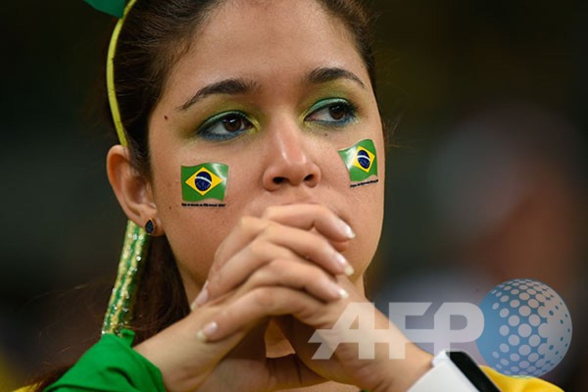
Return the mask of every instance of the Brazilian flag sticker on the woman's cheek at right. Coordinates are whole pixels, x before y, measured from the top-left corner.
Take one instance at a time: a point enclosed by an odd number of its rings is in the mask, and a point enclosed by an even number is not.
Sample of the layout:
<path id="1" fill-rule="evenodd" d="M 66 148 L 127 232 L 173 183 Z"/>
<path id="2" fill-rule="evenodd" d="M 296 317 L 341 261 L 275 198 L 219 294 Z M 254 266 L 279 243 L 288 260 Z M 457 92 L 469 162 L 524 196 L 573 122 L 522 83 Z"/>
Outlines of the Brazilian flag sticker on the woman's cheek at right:
<path id="1" fill-rule="evenodd" d="M 371 176 L 377 176 L 376 146 L 373 140 L 363 139 L 339 155 L 349 170 L 351 182 L 360 182 Z"/>

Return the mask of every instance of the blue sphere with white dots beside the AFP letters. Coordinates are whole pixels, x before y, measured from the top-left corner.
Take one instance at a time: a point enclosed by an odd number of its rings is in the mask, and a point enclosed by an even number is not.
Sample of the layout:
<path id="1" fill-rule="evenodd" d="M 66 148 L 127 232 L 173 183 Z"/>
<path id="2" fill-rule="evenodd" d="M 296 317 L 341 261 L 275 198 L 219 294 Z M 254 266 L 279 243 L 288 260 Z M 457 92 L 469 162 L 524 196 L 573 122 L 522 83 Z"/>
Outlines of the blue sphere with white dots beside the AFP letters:
<path id="1" fill-rule="evenodd" d="M 484 331 L 476 340 L 486 363 L 509 376 L 543 376 L 559 364 L 572 341 L 572 318 L 551 287 L 514 279 L 480 303 Z"/>

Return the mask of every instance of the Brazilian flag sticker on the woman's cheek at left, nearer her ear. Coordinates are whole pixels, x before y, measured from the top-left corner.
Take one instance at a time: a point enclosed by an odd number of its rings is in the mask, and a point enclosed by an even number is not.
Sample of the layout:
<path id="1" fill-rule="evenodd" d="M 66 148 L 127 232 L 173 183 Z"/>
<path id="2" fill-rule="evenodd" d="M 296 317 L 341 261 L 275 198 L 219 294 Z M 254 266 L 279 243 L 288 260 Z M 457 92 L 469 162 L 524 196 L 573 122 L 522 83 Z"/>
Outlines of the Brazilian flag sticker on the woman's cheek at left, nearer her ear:
<path id="1" fill-rule="evenodd" d="M 182 166 L 182 199 L 200 202 L 206 199 L 225 200 L 229 166 L 223 163 L 202 163 Z"/>

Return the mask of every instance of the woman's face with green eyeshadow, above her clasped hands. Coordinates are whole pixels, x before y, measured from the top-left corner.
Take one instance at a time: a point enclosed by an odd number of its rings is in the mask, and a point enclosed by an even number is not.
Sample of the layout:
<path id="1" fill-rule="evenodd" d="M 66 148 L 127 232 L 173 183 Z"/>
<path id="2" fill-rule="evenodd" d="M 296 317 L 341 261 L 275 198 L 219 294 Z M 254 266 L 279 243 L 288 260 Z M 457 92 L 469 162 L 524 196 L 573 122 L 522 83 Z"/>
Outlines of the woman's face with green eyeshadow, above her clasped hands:
<path id="1" fill-rule="evenodd" d="M 382 126 L 352 38 L 315 1 L 225 2 L 171 69 L 149 129 L 153 199 L 189 299 L 240 217 L 287 203 L 322 203 L 349 223 L 344 254 L 362 287 L 382 227 Z M 338 150 L 363 139 L 379 183 L 350 187 Z M 226 206 L 182 206 L 181 166 L 207 162 L 229 167 Z"/>

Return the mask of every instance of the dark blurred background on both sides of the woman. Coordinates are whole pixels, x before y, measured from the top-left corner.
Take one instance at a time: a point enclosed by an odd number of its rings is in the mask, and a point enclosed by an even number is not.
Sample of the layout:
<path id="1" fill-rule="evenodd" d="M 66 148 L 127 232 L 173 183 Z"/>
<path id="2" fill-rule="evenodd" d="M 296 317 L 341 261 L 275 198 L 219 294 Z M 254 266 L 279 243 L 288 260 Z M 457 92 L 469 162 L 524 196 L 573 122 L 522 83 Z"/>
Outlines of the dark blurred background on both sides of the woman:
<path id="1" fill-rule="evenodd" d="M 588 6 L 373 0 L 395 129 L 372 299 L 481 300 L 508 279 L 572 315 L 545 378 L 588 388 Z M 125 229 L 101 119 L 112 19 L 81 0 L 3 2 L 0 390 L 98 338 Z"/>

